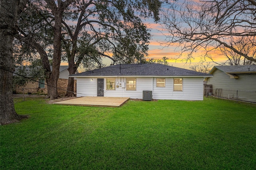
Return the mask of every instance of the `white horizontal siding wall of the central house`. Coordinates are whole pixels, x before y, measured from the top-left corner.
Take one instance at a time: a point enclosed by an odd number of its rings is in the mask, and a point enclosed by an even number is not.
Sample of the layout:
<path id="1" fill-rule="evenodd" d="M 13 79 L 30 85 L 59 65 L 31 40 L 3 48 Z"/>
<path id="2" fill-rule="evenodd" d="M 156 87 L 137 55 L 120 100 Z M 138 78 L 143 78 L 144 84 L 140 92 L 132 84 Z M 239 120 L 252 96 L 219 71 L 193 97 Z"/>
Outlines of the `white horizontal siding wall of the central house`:
<path id="1" fill-rule="evenodd" d="M 100 78 L 100 77 L 99 77 Z M 161 78 L 161 77 L 158 77 Z M 182 77 L 180 77 L 182 78 Z M 93 81 L 91 81 L 93 79 Z M 121 86 L 119 85 L 121 83 Z M 183 77 L 183 91 L 173 91 L 173 78 L 166 78 L 165 87 L 156 87 L 156 78 L 137 77 L 136 90 L 126 90 L 126 78 L 116 77 L 116 90 L 106 90 L 106 78 L 104 79 L 104 96 L 106 97 L 130 97 L 142 99 L 143 90 L 152 90 L 153 99 L 163 100 L 203 100 L 203 78 Z M 77 78 L 77 96 L 97 96 L 97 78 Z"/>

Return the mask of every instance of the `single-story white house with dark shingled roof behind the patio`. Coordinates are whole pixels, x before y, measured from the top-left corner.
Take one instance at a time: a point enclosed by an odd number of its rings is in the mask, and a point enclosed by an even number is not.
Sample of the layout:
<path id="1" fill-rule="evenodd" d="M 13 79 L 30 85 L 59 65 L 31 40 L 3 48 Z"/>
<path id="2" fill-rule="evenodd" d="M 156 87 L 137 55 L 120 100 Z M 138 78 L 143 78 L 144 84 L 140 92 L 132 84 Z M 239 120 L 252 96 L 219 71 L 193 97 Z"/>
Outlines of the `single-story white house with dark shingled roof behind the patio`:
<path id="1" fill-rule="evenodd" d="M 77 96 L 203 100 L 203 80 L 210 74 L 163 64 L 118 64 L 70 75 L 77 78 Z M 147 94 L 146 94 L 147 95 Z"/>

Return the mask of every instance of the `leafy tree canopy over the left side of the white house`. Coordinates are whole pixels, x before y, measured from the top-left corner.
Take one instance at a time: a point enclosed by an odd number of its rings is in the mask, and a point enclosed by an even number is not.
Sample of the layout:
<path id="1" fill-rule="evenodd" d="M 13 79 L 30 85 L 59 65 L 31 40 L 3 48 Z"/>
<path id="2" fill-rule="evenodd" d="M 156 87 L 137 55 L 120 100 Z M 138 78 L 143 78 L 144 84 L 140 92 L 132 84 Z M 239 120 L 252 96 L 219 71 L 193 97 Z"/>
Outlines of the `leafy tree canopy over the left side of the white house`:
<path id="1" fill-rule="evenodd" d="M 61 59 L 68 61 L 70 74 L 74 74 L 80 64 L 103 66 L 102 57 L 111 59 L 114 64 L 140 61 L 147 55 L 150 39 L 143 20 L 152 17 L 158 21 L 162 2 L 66 0 L 54 4 L 54 0 L 30 0 L 24 11 L 26 15 L 19 20 L 20 32 L 16 35 L 24 45 L 36 49 L 49 76 L 52 74 L 48 70 L 49 60 L 53 59 L 53 67 L 56 61 L 54 49 L 60 49 Z M 54 25 L 56 17 L 60 17 L 56 15 L 57 8 L 62 9 L 61 43 L 54 45 Z"/>

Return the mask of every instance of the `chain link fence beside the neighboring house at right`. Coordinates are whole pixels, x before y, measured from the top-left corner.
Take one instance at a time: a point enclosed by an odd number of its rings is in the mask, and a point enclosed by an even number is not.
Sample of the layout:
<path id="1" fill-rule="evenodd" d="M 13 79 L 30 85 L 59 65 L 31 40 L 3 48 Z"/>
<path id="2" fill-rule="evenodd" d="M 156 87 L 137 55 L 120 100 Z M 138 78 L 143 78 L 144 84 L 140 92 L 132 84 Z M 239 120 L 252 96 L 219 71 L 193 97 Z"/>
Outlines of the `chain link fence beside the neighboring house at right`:
<path id="1" fill-rule="evenodd" d="M 215 96 L 218 98 L 226 98 L 229 100 L 237 100 L 244 102 L 256 103 L 256 91 L 252 90 L 235 90 L 235 89 L 223 89 L 223 88 L 209 88 L 205 86 L 205 96 Z"/>

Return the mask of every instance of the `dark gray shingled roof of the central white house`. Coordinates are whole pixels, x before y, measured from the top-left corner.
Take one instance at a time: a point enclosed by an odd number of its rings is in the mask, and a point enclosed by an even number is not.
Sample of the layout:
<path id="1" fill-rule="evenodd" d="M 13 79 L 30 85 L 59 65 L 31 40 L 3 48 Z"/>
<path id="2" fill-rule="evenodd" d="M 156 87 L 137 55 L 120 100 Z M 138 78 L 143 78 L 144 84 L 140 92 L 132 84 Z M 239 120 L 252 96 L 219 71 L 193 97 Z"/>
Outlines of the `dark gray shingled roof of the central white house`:
<path id="1" fill-rule="evenodd" d="M 118 64 L 70 76 L 202 76 L 210 74 L 163 64 Z"/>

